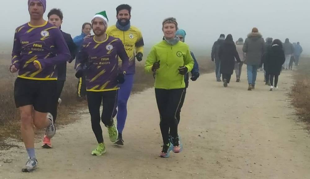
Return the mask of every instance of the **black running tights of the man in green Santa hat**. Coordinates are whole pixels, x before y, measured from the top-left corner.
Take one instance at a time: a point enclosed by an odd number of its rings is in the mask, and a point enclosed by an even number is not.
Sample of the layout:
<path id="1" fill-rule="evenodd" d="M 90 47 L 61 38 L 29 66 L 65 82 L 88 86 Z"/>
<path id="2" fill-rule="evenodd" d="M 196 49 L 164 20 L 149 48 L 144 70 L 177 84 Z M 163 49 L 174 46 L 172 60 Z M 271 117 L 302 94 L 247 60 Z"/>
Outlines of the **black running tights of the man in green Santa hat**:
<path id="1" fill-rule="evenodd" d="M 103 105 L 100 116 L 101 102 Z M 100 119 L 105 126 L 113 125 L 113 112 L 117 102 L 117 90 L 106 92 L 87 92 L 88 110 L 91 114 L 91 128 L 96 136 L 98 143 L 103 143 L 102 128 Z"/>

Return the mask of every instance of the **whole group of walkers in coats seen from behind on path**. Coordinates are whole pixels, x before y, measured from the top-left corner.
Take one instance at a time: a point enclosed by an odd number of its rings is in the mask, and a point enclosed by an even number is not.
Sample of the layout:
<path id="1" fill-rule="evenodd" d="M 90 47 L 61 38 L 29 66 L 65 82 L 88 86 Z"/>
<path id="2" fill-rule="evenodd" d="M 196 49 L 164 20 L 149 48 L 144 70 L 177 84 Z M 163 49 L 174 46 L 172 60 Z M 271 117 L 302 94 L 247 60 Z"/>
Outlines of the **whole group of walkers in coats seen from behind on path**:
<path id="1" fill-rule="evenodd" d="M 239 38 L 234 43 L 232 35 L 221 34 L 212 47 L 211 60 L 215 61 L 216 81 L 221 82 L 224 87 L 230 83 L 233 70 L 236 73 L 236 82 L 240 82 L 243 64 L 247 65 L 248 90 L 254 90 L 257 71 L 264 67 L 265 84 L 270 86 L 270 91 L 278 89 L 277 83 L 282 69 L 292 69 L 293 63 L 299 65 L 299 56 L 303 49 L 300 43 L 291 44 L 289 39 L 282 43 L 279 39 L 273 40 L 263 36 L 257 28 L 247 35 L 246 40 Z"/>

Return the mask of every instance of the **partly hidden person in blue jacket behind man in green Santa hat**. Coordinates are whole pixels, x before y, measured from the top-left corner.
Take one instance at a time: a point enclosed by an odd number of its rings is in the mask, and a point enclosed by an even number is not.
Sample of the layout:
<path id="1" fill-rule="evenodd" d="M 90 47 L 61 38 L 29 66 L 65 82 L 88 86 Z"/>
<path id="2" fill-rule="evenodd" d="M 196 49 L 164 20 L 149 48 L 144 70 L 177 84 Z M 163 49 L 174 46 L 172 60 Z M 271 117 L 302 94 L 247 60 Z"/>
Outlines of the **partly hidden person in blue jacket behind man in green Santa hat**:
<path id="1" fill-rule="evenodd" d="M 83 43 L 83 41 L 86 38 L 89 38 L 91 36 L 91 23 L 85 22 L 82 25 L 82 34 L 76 36 L 75 38 L 73 38 L 73 42 L 75 43 L 75 45 L 77 46 L 77 53 L 79 52 L 79 49 Z M 75 60 L 75 65 L 74 65 L 74 69 L 77 68 L 77 60 Z M 79 78 L 78 80 L 78 90 L 77 90 L 77 94 L 78 94 L 78 98 L 83 99 L 86 96 L 86 83 L 85 83 L 85 76 L 82 76 L 81 78 Z"/>

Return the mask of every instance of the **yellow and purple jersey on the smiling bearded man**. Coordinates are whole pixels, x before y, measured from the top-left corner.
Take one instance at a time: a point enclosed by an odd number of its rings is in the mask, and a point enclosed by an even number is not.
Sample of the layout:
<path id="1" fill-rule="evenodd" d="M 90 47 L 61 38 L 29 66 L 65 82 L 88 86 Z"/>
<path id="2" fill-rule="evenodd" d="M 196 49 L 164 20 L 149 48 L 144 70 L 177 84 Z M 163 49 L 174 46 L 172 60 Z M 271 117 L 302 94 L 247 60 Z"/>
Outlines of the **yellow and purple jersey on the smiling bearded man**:
<path id="1" fill-rule="evenodd" d="M 126 31 L 122 31 L 117 29 L 116 25 L 108 27 L 106 33 L 110 36 L 115 38 L 120 38 L 124 44 L 125 50 L 129 57 L 129 66 L 128 70 L 126 71 L 127 74 L 134 74 L 135 73 L 135 55 L 137 53 L 143 54 L 143 37 L 141 31 L 134 27 L 130 26 L 130 29 Z M 119 64 L 122 64 L 122 60 L 119 59 Z M 119 69 L 121 65 L 119 66 Z"/>

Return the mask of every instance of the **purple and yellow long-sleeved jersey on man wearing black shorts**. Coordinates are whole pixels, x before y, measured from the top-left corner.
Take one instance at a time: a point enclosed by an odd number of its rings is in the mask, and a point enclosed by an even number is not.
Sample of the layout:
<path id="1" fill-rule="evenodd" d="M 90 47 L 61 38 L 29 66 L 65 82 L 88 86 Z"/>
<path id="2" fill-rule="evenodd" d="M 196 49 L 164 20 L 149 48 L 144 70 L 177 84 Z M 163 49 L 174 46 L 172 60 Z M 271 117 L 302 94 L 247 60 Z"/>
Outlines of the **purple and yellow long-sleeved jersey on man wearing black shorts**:
<path id="1" fill-rule="evenodd" d="M 16 29 L 12 65 L 19 69 L 18 78 L 57 80 L 56 65 L 69 59 L 70 52 L 60 29 L 47 21 L 44 25 L 27 23 Z M 40 69 L 33 63 L 38 63 Z"/>

